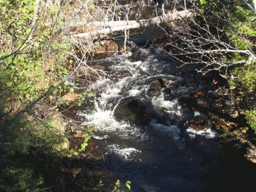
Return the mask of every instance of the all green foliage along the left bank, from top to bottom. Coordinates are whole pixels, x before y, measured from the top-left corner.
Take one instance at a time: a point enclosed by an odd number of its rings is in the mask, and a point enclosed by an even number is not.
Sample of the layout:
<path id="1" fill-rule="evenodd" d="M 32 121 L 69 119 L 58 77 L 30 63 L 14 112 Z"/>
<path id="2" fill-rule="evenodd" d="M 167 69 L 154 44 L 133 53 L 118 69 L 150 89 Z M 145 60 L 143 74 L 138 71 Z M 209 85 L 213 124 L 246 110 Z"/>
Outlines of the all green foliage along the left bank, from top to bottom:
<path id="1" fill-rule="evenodd" d="M 68 73 L 72 45 L 58 32 L 63 16 L 55 5 L 35 10 L 35 0 L 0 1 L 0 128 Z M 1 133 L 0 191 L 39 191 L 45 169 L 54 172 L 52 164 L 61 157 L 48 155 L 68 148 L 56 114 L 34 108 Z"/>

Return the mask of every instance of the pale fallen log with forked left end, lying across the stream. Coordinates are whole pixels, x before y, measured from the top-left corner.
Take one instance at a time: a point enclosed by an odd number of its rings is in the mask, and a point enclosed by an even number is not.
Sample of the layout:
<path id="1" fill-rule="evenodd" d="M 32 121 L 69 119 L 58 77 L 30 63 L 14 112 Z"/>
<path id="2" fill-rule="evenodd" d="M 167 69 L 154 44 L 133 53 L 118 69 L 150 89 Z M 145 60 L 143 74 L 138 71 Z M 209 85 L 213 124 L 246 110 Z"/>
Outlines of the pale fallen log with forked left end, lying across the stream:
<path id="1" fill-rule="evenodd" d="M 152 19 L 142 19 L 142 20 L 117 20 L 117 21 L 109 21 L 109 22 L 90 22 L 87 24 L 77 23 L 73 26 L 87 26 L 87 27 L 97 27 L 94 31 L 89 31 L 86 33 L 79 33 L 76 35 L 72 35 L 73 38 L 85 38 L 85 39 L 93 39 L 98 38 L 100 35 L 107 35 L 109 33 L 113 33 L 114 31 L 122 31 L 127 29 L 136 29 L 143 28 L 150 25 L 161 24 L 163 22 L 170 22 L 177 19 L 183 19 L 185 17 L 191 17 L 193 12 L 189 10 L 184 11 L 174 11 L 171 13 L 167 13 L 158 17 L 154 17 Z"/>

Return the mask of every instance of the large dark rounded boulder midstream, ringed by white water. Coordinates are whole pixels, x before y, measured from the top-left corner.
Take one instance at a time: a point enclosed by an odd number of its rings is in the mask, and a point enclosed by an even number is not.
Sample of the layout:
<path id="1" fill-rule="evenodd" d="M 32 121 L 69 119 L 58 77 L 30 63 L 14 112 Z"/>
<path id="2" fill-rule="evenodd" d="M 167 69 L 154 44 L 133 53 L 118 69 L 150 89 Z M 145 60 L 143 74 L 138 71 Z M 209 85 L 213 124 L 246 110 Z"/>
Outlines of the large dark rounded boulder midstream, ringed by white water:
<path id="1" fill-rule="evenodd" d="M 125 97 L 115 108 L 116 120 L 129 120 L 135 124 L 148 124 L 152 118 L 160 119 L 150 102 L 143 97 Z"/>

